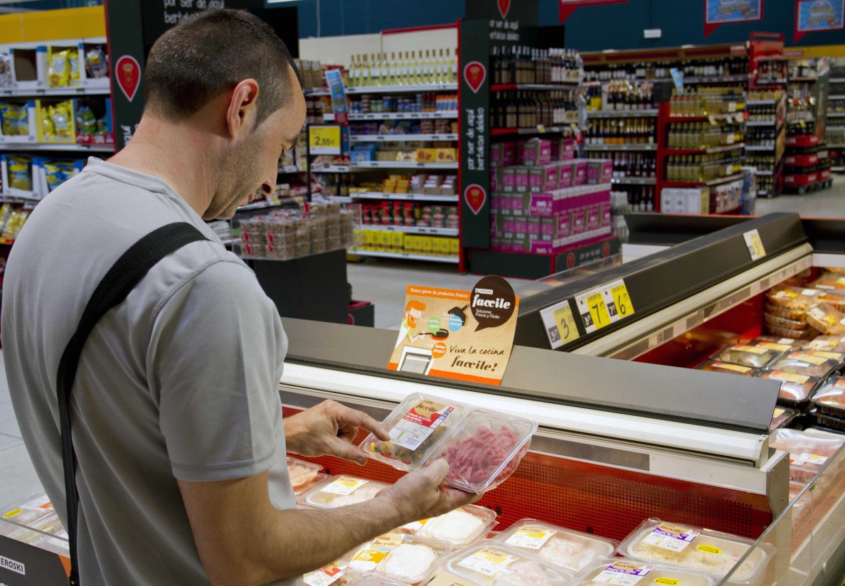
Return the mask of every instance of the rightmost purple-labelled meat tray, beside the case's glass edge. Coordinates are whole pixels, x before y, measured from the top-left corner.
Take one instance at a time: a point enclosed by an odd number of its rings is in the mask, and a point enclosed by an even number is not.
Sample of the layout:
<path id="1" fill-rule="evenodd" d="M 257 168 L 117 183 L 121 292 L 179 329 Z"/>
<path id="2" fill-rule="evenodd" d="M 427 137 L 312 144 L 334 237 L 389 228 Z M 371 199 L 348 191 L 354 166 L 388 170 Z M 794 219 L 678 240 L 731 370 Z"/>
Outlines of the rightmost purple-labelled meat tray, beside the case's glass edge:
<path id="1" fill-rule="evenodd" d="M 749 551 L 754 541 L 737 535 L 648 519 L 619 545 L 618 553 L 643 562 L 703 570 L 724 578 Z M 733 572 L 731 582 L 755 584 L 770 559 L 765 549 L 756 548 Z"/>

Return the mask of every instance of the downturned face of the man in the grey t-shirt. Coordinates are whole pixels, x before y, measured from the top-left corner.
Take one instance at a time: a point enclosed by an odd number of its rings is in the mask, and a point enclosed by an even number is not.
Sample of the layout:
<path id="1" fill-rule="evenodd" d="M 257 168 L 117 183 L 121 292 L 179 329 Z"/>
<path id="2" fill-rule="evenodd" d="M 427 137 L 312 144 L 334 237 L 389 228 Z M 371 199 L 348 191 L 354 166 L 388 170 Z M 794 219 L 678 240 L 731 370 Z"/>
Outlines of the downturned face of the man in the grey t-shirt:
<path id="1" fill-rule="evenodd" d="M 296 74 L 290 69 L 293 87 Z M 228 220 L 239 206 L 251 202 L 264 187 L 275 191 L 279 157 L 293 148 L 305 122 L 305 98 L 295 91 L 292 99 L 270 114 L 252 133 L 233 145 L 224 168 L 215 170 L 218 182 L 203 220 Z"/>

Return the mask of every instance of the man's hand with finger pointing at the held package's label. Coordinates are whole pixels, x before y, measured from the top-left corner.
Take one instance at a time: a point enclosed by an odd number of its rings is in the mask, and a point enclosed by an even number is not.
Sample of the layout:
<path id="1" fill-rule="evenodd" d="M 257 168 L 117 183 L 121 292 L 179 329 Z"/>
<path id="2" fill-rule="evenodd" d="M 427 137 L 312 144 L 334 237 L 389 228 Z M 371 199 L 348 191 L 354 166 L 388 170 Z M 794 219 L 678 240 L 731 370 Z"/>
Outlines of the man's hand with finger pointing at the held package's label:
<path id="1" fill-rule="evenodd" d="M 366 413 L 349 409 L 336 401 L 324 401 L 285 418 L 287 451 L 308 458 L 337 456 L 363 466 L 367 457 L 361 448 L 352 445 L 359 427 L 371 431 L 380 440 L 390 440 L 384 427 Z"/>

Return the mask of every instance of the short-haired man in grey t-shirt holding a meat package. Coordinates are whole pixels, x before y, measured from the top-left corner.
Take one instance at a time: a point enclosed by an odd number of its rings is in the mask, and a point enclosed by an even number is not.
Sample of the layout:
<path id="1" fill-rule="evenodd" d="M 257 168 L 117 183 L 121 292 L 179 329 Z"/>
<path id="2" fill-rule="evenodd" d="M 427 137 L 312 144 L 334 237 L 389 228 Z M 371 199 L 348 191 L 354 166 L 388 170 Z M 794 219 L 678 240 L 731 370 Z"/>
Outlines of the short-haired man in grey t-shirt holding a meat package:
<path id="1" fill-rule="evenodd" d="M 79 570 L 93 584 L 301 583 L 303 572 L 477 496 L 439 461 L 373 501 L 295 509 L 286 450 L 363 464 L 367 415 L 328 402 L 281 421 L 287 340 L 254 274 L 203 219 L 259 188 L 305 118 L 290 54 L 253 16 L 211 10 L 153 46 L 134 138 L 47 197 L 8 259 L 3 345 L 27 449 L 63 520 L 56 373 L 85 304 L 117 258 L 183 221 L 197 241 L 156 264 L 94 328 L 70 407 Z"/>

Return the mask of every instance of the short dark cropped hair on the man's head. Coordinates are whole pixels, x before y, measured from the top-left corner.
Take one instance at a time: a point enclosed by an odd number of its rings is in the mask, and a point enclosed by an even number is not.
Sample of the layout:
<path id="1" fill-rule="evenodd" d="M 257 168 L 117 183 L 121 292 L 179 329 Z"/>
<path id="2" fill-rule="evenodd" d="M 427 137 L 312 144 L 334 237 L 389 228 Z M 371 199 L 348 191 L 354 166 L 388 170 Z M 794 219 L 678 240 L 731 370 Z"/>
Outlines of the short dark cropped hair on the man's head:
<path id="1" fill-rule="evenodd" d="M 146 107 L 182 120 L 244 79 L 255 79 L 258 126 L 291 99 L 289 67 L 302 90 L 302 73 L 269 24 L 246 10 L 204 10 L 155 41 L 145 70 Z"/>

